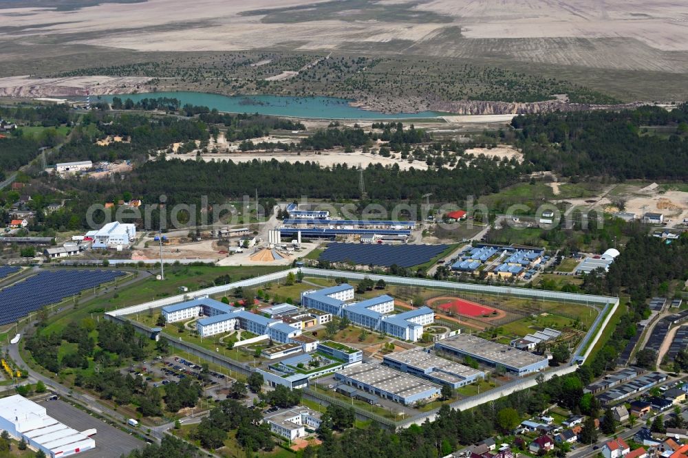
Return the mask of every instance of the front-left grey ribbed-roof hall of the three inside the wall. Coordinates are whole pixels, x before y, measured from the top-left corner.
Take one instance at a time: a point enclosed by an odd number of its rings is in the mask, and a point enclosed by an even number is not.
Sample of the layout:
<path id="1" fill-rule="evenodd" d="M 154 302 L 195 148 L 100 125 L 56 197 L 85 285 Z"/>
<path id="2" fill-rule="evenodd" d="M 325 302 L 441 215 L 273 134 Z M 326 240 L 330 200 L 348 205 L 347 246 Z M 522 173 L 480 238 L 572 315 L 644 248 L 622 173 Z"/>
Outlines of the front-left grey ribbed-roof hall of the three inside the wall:
<path id="1" fill-rule="evenodd" d="M 438 384 L 393 371 L 380 364 L 365 362 L 342 369 L 335 373 L 334 377 L 362 391 L 405 405 L 431 401 L 438 397 L 441 391 Z"/>

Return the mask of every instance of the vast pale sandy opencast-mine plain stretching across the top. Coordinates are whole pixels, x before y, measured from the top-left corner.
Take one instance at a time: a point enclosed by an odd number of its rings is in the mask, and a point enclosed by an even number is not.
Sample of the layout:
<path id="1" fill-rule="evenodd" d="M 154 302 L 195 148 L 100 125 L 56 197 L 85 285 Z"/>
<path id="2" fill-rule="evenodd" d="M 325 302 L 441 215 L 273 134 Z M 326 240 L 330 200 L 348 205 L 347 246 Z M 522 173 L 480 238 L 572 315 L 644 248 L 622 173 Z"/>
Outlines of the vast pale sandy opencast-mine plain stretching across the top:
<path id="1" fill-rule="evenodd" d="M 409 13 L 406 0 L 371 0 L 377 11 L 373 16 L 366 15 L 367 8 L 335 6 L 333 11 L 332 3 L 313 6 L 301 17 L 285 10 L 269 21 L 261 14 L 240 13 L 314 3 L 149 0 L 76 11 L 14 8 L 0 10 L 0 24 L 12 25 L 0 40 L 60 35 L 62 43 L 155 51 L 351 50 L 352 43 L 357 43 L 354 49 L 391 43 L 392 52 L 406 52 L 413 45 L 416 54 L 434 56 L 488 54 L 583 67 L 688 69 L 685 57 L 661 52 L 688 51 L 688 10 L 682 0 L 431 0 L 413 6 L 416 20 L 396 19 Z M 394 47 L 400 41 L 407 44 Z"/>

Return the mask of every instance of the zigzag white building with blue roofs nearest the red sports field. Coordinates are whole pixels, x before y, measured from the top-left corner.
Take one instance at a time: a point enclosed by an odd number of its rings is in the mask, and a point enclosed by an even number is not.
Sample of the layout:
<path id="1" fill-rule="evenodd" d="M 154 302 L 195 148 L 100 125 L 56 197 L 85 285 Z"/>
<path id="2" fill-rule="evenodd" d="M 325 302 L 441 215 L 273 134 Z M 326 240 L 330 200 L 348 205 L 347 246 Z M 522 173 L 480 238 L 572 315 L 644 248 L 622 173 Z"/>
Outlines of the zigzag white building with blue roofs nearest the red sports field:
<path id="1" fill-rule="evenodd" d="M 301 305 L 323 310 L 334 316 L 346 316 L 355 325 L 412 342 L 419 340 L 423 327 L 435 320 L 435 312 L 429 307 L 388 315 L 394 311 L 394 298 L 387 294 L 356 302 L 354 287 L 348 283 L 302 292 Z"/>

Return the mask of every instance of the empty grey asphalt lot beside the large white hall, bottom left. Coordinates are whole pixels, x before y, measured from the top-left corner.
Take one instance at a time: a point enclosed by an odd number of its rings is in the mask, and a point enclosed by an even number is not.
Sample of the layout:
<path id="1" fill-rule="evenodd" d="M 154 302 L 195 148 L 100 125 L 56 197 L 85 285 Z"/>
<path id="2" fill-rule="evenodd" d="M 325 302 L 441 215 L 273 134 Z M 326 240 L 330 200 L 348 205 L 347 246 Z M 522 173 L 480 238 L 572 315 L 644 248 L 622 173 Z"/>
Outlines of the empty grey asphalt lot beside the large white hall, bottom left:
<path id="1" fill-rule="evenodd" d="M 39 403 L 45 407 L 48 415 L 70 428 L 78 431 L 85 431 L 90 428 L 98 430 L 98 433 L 93 436 L 96 441 L 96 448 L 80 453 L 80 457 L 119 458 L 122 455 L 127 455 L 134 448 L 146 445 L 145 442 L 136 437 L 92 417 L 62 400 L 41 401 Z"/>

